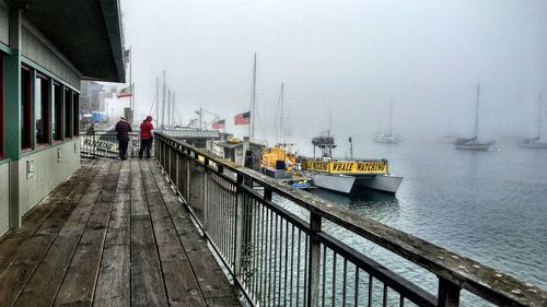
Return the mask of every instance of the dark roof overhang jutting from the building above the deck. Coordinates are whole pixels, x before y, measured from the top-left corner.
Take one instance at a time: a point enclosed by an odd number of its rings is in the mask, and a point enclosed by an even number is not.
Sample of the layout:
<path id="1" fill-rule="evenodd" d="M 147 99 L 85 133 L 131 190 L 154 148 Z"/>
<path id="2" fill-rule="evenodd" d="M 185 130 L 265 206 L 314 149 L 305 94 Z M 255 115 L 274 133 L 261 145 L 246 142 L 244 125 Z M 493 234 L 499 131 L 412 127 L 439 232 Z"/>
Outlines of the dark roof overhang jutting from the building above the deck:
<path id="1" fill-rule="evenodd" d="M 8 0 L 83 74 L 125 82 L 118 0 Z"/>

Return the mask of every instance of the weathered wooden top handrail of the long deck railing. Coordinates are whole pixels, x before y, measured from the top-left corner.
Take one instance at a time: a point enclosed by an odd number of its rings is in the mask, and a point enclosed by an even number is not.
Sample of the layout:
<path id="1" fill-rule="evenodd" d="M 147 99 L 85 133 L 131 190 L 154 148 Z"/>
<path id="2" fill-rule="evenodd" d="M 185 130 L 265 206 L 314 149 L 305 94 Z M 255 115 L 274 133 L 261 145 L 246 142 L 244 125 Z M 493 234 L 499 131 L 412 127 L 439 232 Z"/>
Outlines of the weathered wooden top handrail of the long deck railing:
<path id="1" fill-rule="evenodd" d="M 261 197 L 253 193 L 254 190 L 243 185 L 243 181 L 251 180 L 254 185 L 264 187 L 265 194 L 268 193 L 271 196 L 271 192 L 275 192 L 306 209 L 311 215 L 311 221 L 309 223 L 310 228 L 306 231 L 310 234 L 311 240 L 310 248 L 312 250 L 310 253 L 313 253 L 314 243 L 325 246 L 337 245 L 336 248 L 339 249 L 349 248 L 321 232 L 321 219 L 326 219 L 432 272 L 439 278 L 439 293 L 437 298 L 428 296 L 427 293 L 421 293 L 421 288 L 416 288 L 414 284 L 409 284 L 407 281 L 400 282 L 399 279 L 400 283 L 397 284 L 397 286 L 404 285 L 406 287 L 404 291 L 407 293 L 411 292 L 417 294 L 416 299 L 411 300 L 420 306 L 458 306 L 459 292 L 462 288 L 501 306 L 547 306 L 547 292 L 545 290 L 524 283 L 511 275 L 501 273 L 498 270 L 451 252 L 405 232 L 363 216 L 354 215 L 349 210 L 337 206 L 311 193 L 281 185 L 275 179 L 258 172 L 216 157 L 203 150 L 193 147 L 162 133 L 155 133 L 155 135 L 159 143 L 166 145 L 166 147 L 162 147 L 164 151 L 165 149 L 174 151 L 176 154 L 194 161 L 193 163 L 198 163 L 206 167 L 205 172 L 214 170 L 214 174 L 225 177 L 229 180 L 231 179 L 235 182 L 238 191 L 248 196 L 254 194 L 255 198 L 261 199 L 264 205 L 269 205 L 270 208 L 276 206 L 266 196 Z M 164 155 L 158 152 L 162 151 L 162 149 L 156 146 L 156 156 L 160 163 L 164 163 L 162 165 L 165 168 L 166 161 L 162 161 L 164 160 Z M 202 161 L 198 160 L 199 156 L 202 157 Z M 211 162 L 216 167 L 210 166 Z M 171 161 L 168 163 L 172 165 Z M 235 174 L 237 179 L 234 180 L 235 178 L 226 176 L 224 174 L 225 170 Z M 283 211 L 279 208 L 277 210 L 280 212 Z M 312 227 L 314 224 L 317 224 L 315 231 L 314 227 Z M 348 252 L 350 251 L 346 250 L 345 255 L 349 255 Z M 309 257 L 313 259 L 311 255 Z M 373 262 L 371 259 L 365 259 L 364 255 L 359 253 L 353 255 L 353 263 L 354 261 L 364 261 L 366 263 Z M 309 265 L 312 268 L 318 264 L 311 262 Z M 379 268 L 377 263 L 373 265 Z M 383 270 L 384 269 L 381 269 L 381 271 Z M 310 275 L 312 275 L 312 271 L 310 271 Z M 311 276 L 309 278 L 312 279 Z M 274 284 L 276 284 L 275 281 Z M 310 292 L 312 292 L 312 290 L 310 290 Z M 309 300 L 309 304 L 312 304 L 311 300 Z"/>

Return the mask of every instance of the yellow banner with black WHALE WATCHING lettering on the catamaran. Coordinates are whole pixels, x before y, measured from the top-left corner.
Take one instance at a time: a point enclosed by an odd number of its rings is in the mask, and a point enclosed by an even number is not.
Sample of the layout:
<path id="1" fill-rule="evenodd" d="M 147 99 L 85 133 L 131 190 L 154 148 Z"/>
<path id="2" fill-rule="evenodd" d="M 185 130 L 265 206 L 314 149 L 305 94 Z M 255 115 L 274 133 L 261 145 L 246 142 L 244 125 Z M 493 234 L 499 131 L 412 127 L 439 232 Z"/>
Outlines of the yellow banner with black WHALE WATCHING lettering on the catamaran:
<path id="1" fill-rule="evenodd" d="M 304 161 L 302 168 L 336 174 L 387 174 L 387 161 Z"/>

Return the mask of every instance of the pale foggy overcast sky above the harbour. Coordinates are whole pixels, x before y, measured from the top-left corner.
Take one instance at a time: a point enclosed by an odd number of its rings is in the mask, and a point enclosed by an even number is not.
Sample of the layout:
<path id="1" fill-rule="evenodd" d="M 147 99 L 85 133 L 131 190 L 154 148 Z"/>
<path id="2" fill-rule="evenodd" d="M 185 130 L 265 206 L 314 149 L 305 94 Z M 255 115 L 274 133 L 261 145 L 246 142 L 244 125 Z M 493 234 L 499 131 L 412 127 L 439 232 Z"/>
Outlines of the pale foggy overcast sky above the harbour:
<path id="1" fill-rule="evenodd" d="M 254 52 L 256 133 L 270 141 L 281 82 L 287 138 L 299 140 L 326 130 L 329 109 L 335 135 L 369 138 L 387 129 L 392 98 L 403 138 L 465 137 L 478 82 L 480 133 L 527 135 L 538 93 L 547 97 L 545 0 L 123 0 L 121 10 L 137 118 L 166 70 L 185 123 L 202 106 L 243 134 L 233 116 L 249 109 Z"/>

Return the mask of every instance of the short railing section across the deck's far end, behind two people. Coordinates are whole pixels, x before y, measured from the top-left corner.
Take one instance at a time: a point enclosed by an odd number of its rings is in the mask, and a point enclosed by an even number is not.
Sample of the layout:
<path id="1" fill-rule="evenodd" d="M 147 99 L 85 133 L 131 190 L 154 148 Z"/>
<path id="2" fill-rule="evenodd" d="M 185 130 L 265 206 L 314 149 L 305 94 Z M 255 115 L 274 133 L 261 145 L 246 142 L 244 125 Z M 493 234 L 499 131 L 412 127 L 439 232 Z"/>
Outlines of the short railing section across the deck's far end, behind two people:
<path id="1" fill-rule="evenodd" d="M 118 157 L 118 140 L 116 131 L 95 130 L 80 131 L 80 155 L 81 157 Z M 140 137 L 138 131 L 129 132 L 128 157 L 138 157 L 140 150 Z M 154 153 L 152 143 L 151 154 Z"/>

